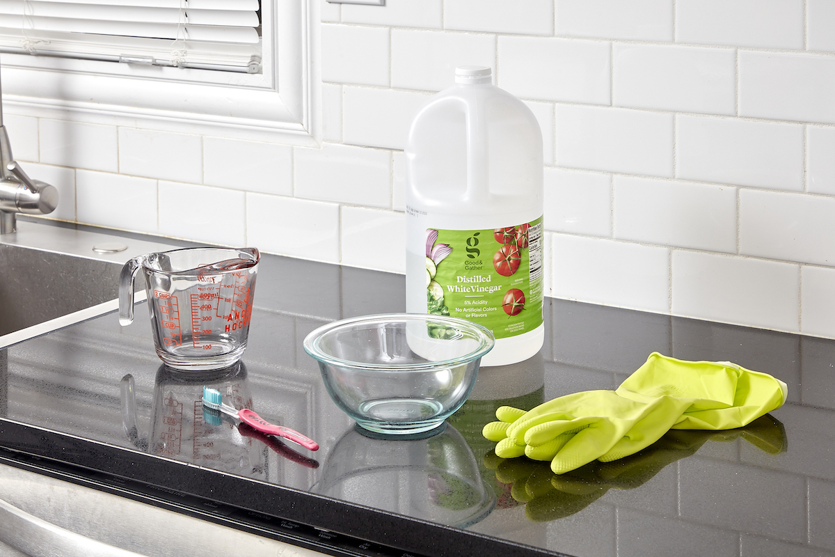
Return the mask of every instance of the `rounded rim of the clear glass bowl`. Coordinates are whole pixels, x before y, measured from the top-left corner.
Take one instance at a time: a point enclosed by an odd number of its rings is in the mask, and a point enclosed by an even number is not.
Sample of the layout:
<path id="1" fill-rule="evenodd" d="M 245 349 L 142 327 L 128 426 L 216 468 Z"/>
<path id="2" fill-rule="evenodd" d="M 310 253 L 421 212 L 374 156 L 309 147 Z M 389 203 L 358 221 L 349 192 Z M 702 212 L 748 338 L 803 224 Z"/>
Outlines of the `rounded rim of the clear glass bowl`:
<path id="1" fill-rule="evenodd" d="M 468 352 L 463 356 L 449 358 L 447 360 L 437 360 L 434 362 L 414 362 L 414 363 L 392 363 L 387 365 L 381 364 L 366 364 L 363 362 L 353 362 L 352 360 L 345 360 L 340 357 L 333 357 L 321 351 L 319 342 L 326 333 L 335 332 L 339 329 L 347 329 L 356 326 L 360 323 L 374 323 L 374 322 L 442 322 L 448 324 L 450 327 L 457 327 L 465 329 L 473 334 L 473 337 L 480 340 L 478 349 Z M 442 339 L 438 339 L 442 340 Z M 335 322 L 327 323 L 321 327 L 317 327 L 310 332 L 303 342 L 305 352 L 318 362 L 326 363 L 332 366 L 348 367 L 355 369 L 362 369 L 373 371 L 377 369 L 380 372 L 391 371 L 410 371 L 410 370 L 427 370 L 437 367 L 453 367 L 460 366 L 467 362 L 472 362 L 480 357 L 483 357 L 487 352 L 493 349 L 496 343 L 493 332 L 487 327 L 479 325 L 462 319 L 461 317 L 453 316 L 439 316 L 432 313 L 377 313 L 374 315 L 348 317 Z"/>

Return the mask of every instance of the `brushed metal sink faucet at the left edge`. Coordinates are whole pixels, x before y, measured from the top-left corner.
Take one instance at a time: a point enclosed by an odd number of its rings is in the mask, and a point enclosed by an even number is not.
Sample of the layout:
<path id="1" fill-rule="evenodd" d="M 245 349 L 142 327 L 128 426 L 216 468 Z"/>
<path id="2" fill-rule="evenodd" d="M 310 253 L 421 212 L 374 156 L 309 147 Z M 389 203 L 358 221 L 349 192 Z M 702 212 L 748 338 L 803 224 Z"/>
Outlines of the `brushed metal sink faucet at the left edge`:
<path id="1" fill-rule="evenodd" d="M 46 215 L 58 205 L 58 190 L 40 180 L 32 180 L 12 156 L 6 126 L 3 125 L 3 99 L 0 94 L 0 234 L 16 230 L 17 214 Z"/>

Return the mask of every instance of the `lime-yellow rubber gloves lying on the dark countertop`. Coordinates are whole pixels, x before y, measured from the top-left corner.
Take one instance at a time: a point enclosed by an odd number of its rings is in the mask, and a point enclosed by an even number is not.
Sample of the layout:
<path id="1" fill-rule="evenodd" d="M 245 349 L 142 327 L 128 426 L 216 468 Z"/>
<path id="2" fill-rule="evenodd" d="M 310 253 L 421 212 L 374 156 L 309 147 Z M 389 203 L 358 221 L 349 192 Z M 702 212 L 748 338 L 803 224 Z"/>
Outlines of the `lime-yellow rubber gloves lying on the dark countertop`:
<path id="1" fill-rule="evenodd" d="M 616 391 L 578 392 L 524 412 L 499 408 L 483 435 L 503 458 L 551 460 L 564 473 L 655 443 L 669 428 L 740 428 L 785 401 L 786 384 L 730 362 L 684 362 L 653 352 Z"/>

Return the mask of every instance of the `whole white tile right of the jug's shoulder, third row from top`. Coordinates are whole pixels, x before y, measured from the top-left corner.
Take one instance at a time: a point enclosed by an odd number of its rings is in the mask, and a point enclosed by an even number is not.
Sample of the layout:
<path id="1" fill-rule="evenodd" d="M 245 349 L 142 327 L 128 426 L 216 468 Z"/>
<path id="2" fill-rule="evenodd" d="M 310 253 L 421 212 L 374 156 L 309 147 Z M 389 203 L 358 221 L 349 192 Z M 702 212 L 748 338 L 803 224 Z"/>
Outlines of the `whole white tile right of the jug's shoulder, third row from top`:
<path id="1" fill-rule="evenodd" d="M 672 114 L 558 104 L 556 129 L 558 166 L 673 174 Z"/>

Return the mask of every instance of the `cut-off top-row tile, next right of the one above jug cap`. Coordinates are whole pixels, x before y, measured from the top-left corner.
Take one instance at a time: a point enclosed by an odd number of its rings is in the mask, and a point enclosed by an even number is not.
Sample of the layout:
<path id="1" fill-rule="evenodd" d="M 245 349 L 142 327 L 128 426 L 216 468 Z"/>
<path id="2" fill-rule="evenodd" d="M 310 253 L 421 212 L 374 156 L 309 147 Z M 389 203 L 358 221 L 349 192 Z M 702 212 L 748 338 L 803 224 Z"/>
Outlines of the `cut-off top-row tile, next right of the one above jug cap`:
<path id="1" fill-rule="evenodd" d="M 673 0 L 556 0 L 555 8 L 559 36 L 673 40 Z"/>

